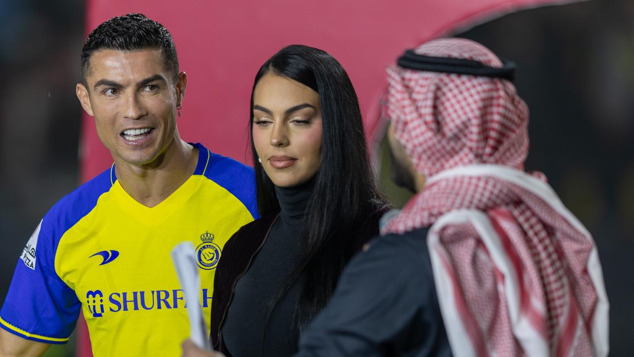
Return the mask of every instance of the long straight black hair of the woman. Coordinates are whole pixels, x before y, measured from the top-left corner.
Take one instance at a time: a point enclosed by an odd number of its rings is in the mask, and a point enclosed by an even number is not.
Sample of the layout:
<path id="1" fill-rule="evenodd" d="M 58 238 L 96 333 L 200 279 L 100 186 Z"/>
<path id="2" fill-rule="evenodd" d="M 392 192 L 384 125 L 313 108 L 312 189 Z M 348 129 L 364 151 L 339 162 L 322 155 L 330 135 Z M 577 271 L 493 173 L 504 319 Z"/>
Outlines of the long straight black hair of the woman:
<path id="1" fill-rule="evenodd" d="M 385 210 L 377 190 L 366 147 L 359 102 L 344 68 L 325 51 L 292 45 L 273 55 L 257 72 L 253 86 L 266 74 L 287 77 L 312 88 L 320 96 L 322 118 L 321 167 L 315 177 L 304 223 L 306 250 L 296 269 L 269 304 L 270 309 L 294 281 L 301 282 L 295 323 L 305 328 L 327 303 L 343 267 L 366 243 L 359 234 L 370 215 Z M 257 205 L 261 215 L 280 204 L 275 186 L 257 162 L 253 142 L 251 94 L 251 147 L 256 168 Z"/>

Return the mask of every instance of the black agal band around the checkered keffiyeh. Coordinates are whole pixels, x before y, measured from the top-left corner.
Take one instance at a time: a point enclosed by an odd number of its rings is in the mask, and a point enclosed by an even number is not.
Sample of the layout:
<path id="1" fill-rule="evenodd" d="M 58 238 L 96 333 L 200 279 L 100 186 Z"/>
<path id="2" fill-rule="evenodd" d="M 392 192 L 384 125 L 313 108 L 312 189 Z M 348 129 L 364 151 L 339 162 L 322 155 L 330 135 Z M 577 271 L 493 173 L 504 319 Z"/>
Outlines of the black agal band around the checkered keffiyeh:
<path id="1" fill-rule="evenodd" d="M 502 60 L 503 67 L 489 67 L 482 62 L 466 60 L 464 58 L 431 57 L 418 55 L 414 50 L 406 50 L 398 62 L 400 67 L 416 69 L 417 71 L 443 72 L 455 74 L 469 74 L 513 81 L 515 77 L 515 62 Z"/>

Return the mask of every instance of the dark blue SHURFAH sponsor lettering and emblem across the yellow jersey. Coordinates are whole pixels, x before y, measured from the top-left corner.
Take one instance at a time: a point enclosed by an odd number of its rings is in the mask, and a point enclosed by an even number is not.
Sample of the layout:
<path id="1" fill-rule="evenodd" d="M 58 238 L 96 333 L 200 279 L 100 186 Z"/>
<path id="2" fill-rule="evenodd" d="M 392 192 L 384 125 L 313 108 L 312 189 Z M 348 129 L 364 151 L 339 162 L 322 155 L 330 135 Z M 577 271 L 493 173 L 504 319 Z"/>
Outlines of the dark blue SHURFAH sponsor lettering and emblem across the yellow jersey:
<path id="1" fill-rule="evenodd" d="M 211 305 L 211 292 L 202 289 L 202 307 Z M 182 309 L 187 307 L 183 290 L 149 290 L 138 292 L 113 292 L 104 298 L 101 290 L 90 290 L 86 293 L 88 311 L 94 318 L 104 314 L 124 313 L 127 311 Z"/>

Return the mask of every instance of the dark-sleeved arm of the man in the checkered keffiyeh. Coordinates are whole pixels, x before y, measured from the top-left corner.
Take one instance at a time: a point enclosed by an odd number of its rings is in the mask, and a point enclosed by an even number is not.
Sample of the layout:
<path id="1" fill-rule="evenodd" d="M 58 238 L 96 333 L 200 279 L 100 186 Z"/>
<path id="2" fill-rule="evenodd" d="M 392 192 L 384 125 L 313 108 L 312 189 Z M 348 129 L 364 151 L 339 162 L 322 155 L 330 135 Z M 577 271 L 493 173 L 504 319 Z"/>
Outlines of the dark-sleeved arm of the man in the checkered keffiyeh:
<path id="1" fill-rule="evenodd" d="M 295 357 L 450 356 L 424 233 L 376 239 L 354 257 Z"/>

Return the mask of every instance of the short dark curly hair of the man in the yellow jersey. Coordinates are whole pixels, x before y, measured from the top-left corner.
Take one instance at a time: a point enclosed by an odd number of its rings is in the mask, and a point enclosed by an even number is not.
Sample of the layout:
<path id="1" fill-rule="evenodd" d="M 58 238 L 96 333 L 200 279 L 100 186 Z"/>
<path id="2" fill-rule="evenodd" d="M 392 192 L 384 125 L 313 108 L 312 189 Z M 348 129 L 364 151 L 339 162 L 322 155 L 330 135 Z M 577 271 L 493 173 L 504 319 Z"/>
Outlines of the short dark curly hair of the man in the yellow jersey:
<path id="1" fill-rule="evenodd" d="M 172 35 L 165 26 L 141 13 L 113 17 L 101 23 L 86 38 L 81 50 L 81 79 L 86 84 L 90 72 L 90 57 L 99 50 L 136 51 L 146 48 L 159 49 L 165 69 L 178 79 L 178 57 Z"/>

